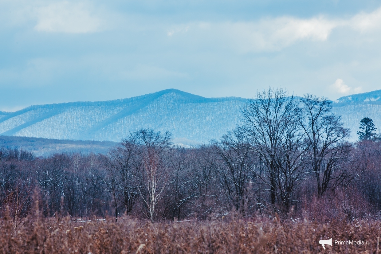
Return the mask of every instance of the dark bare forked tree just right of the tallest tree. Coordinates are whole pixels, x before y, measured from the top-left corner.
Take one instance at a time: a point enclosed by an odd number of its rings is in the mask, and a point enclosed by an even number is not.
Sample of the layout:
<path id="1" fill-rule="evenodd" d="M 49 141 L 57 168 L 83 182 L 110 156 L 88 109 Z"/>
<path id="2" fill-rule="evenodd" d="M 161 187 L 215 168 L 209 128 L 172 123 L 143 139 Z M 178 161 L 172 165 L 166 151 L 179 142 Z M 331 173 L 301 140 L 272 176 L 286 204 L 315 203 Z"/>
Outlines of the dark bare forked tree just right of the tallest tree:
<path id="1" fill-rule="evenodd" d="M 319 99 L 307 94 L 301 99 L 301 104 L 303 113 L 299 115 L 299 122 L 306 134 L 317 193 L 322 196 L 330 181 L 338 177 L 334 174 L 335 171 L 349 157 L 351 145 L 346 141 L 349 129 L 343 127 L 341 117 L 331 113 L 332 102 L 327 98 Z"/>

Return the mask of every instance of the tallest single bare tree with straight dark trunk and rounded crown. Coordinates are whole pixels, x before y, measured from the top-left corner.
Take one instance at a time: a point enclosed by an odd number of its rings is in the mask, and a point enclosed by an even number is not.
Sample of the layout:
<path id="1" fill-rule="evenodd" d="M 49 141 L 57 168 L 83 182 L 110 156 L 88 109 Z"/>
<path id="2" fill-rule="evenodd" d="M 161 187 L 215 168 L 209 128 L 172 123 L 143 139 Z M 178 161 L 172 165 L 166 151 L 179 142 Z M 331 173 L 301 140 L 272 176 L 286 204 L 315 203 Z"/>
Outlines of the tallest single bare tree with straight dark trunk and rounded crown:
<path id="1" fill-rule="evenodd" d="M 285 147 L 287 141 L 284 139 L 288 137 L 288 127 L 295 123 L 296 109 L 294 96 L 288 96 L 285 89 L 269 88 L 258 92 L 256 99 L 249 100 L 241 110 L 243 125 L 240 129 L 251 140 L 252 149 L 261 162 L 259 167 L 266 173 L 263 176 L 259 174 L 259 177 L 269 186 L 272 204 L 277 200 L 277 186 L 285 184 L 279 179 L 282 170 L 280 162 L 284 156 L 282 149 L 295 149 L 295 145 Z M 293 187 L 290 188 L 293 190 Z"/>

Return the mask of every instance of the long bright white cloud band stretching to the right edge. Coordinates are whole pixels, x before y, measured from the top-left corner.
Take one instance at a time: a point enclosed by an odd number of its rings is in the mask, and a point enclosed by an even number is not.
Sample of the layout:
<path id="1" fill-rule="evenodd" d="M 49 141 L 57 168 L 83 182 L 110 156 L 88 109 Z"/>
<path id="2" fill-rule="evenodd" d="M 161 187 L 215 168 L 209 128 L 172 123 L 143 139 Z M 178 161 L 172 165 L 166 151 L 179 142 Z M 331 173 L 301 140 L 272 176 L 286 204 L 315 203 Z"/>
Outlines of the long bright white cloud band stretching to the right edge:
<path id="1" fill-rule="evenodd" d="M 168 36 L 202 38 L 201 44 L 229 45 L 240 53 L 280 51 L 300 41 L 325 42 L 333 29 L 349 27 L 360 32 L 381 28 L 381 8 L 348 19 L 316 16 L 263 18 L 243 22 L 192 22 L 167 29 Z"/>

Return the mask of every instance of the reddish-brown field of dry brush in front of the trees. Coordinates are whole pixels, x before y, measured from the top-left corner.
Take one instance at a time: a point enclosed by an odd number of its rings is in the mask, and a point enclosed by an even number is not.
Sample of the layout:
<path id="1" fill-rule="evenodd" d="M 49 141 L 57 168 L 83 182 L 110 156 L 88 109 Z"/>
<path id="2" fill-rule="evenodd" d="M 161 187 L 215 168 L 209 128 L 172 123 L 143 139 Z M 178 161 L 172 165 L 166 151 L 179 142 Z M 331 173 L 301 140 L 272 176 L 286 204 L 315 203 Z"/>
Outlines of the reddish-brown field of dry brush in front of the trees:
<path id="1" fill-rule="evenodd" d="M 1 253 L 381 253 L 380 222 L 328 223 L 252 217 L 207 221 L 154 222 L 121 217 L 70 221 L 30 215 L 16 228 L 10 217 L 0 226 Z M 323 250 L 319 240 L 332 237 Z M 334 240 L 370 241 L 335 245 Z"/>

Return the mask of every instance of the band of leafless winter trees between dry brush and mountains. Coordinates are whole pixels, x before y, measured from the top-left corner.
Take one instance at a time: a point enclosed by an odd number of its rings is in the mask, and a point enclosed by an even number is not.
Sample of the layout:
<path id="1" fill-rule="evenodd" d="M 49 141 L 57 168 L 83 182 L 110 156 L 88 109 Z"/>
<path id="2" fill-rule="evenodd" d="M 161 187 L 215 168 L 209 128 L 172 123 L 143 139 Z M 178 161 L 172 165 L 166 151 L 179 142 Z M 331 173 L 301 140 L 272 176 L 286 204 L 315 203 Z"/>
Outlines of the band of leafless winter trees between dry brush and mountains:
<path id="1" fill-rule="evenodd" d="M 154 129 L 131 133 L 105 155 L 35 158 L 2 147 L 0 209 L 17 222 L 38 195 L 45 216 L 206 219 L 231 211 L 301 213 L 336 195 L 350 220 L 377 213 L 375 126 L 364 118 L 360 141 L 349 142 L 349 129 L 331 109 L 325 97 L 275 88 L 248 100 L 236 129 L 198 147 L 174 146 L 171 133 Z"/>

